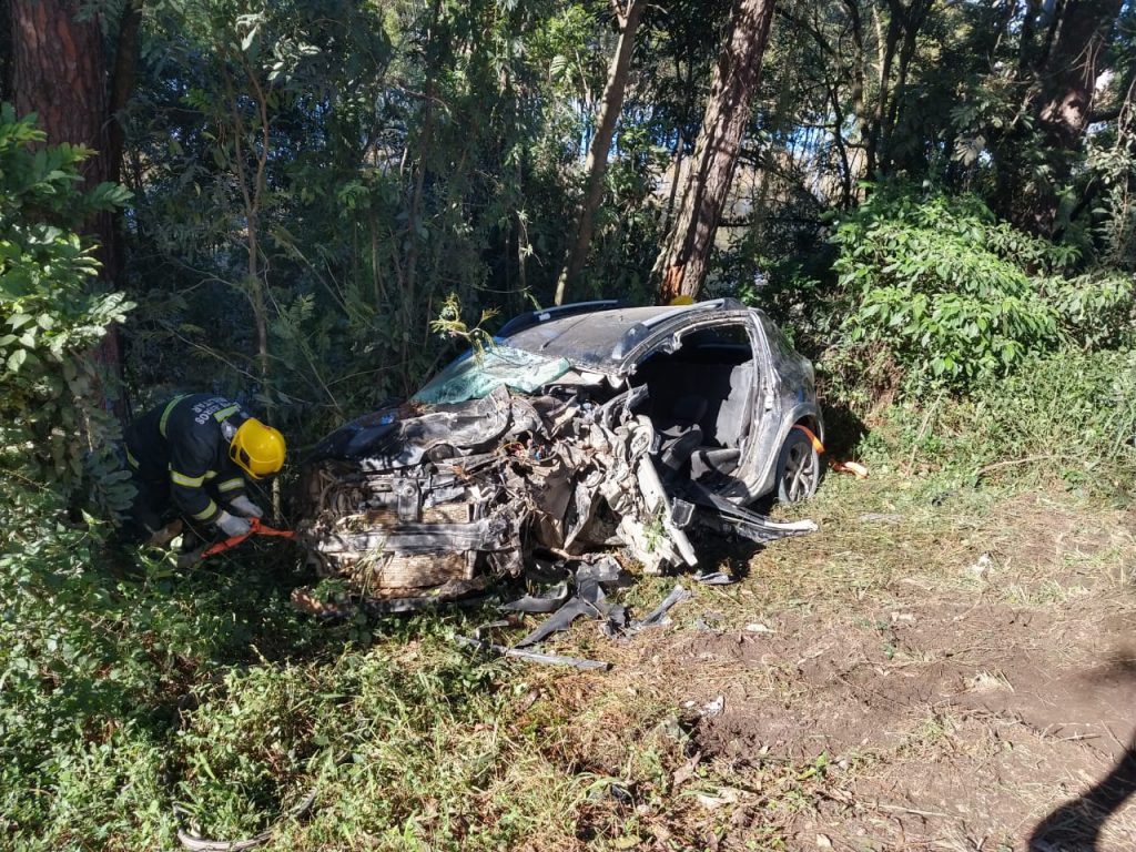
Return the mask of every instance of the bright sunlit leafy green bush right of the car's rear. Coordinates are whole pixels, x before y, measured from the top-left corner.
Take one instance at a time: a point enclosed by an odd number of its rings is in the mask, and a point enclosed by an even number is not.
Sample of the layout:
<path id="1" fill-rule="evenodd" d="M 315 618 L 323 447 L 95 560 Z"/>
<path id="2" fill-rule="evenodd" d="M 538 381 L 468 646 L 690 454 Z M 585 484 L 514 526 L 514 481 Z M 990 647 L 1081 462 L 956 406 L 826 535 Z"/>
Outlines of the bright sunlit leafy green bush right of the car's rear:
<path id="1" fill-rule="evenodd" d="M 1130 327 L 1130 278 L 1064 277 L 1071 249 L 995 222 L 975 199 L 883 189 L 834 240 L 843 345 L 916 389 L 974 386 L 1063 341 L 1122 342 Z"/>

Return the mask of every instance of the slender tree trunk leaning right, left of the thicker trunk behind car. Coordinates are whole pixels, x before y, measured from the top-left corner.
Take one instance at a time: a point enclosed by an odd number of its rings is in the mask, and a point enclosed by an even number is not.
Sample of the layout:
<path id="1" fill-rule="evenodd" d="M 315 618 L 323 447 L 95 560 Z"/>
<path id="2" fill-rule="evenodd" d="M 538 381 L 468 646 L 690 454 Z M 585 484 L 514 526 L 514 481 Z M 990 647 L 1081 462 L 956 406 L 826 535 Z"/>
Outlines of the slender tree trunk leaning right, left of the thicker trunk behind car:
<path id="1" fill-rule="evenodd" d="M 557 279 L 556 303 L 563 304 L 565 291 L 587 261 L 587 251 L 592 244 L 592 225 L 595 211 L 603 198 L 603 175 L 608 170 L 608 151 L 616 134 L 616 124 L 624 108 L 624 92 L 627 89 L 627 72 L 632 64 L 632 51 L 635 47 L 635 31 L 638 30 L 645 0 L 628 0 L 627 10 L 619 11 L 619 43 L 616 55 L 608 69 L 608 83 L 603 89 L 603 103 L 596 122 L 595 135 L 587 149 L 587 186 L 584 190 L 584 201 L 576 218 L 576 239 L 568 252 L 560 277 Z"/>

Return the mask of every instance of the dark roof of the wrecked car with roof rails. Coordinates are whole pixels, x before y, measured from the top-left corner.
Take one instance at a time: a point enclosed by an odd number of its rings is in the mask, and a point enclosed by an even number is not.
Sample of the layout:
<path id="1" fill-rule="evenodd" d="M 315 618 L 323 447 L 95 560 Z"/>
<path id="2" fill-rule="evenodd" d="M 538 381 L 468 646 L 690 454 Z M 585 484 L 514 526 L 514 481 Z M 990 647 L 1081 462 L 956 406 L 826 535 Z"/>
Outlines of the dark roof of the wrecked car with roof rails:
<path id="1" fill-rule="evenodd" d="M 500 336 L 506 345 L 563 358 L 574 366 L 618 371 L 628 353 L 652 333 L 683 325 L 722 310 L 741 310 L 736 299 L 712 299 L 693 304 L 627 308 L 585 302 L 549 311 L 533 311 L 510 320 Z"/>

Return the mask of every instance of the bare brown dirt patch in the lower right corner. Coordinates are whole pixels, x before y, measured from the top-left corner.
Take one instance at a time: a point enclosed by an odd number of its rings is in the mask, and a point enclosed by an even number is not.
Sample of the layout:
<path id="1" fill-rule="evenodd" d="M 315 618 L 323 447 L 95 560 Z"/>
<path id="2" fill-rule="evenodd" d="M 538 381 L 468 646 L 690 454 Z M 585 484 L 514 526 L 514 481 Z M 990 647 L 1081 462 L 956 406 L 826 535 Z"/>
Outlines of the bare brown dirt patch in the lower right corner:
<path id="1" fill-rule="evenodd" d="M 696 725 L 703 759 L 835 765 L 819 812 L 787 826 L 794 846 L 824 834 L 837 849 L 1026 849 L 1134 730 L 1136 620 L 1102 608 L 943 600 L 862 613 L 868 624 L 786 617 L 769 633 L 683 635 L 671 653 L 698 673 L 688 700 L 721 698 Z M 1134 842 L 1130 807 L 1097 849 Z"/>

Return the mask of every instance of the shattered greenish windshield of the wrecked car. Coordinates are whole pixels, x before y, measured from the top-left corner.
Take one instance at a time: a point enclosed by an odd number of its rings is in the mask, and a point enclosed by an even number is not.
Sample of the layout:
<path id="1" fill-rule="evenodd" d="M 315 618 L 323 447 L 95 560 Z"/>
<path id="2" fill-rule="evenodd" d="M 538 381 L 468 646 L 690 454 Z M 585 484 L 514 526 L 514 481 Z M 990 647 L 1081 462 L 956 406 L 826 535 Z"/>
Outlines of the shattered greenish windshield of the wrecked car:
<path id="1" fill-rule="evenodd" d="M 435 406 L 466 402 L 488 396 L 502 385 L 520 393 L 533 393 L 569 369 L 571 365 L 563 358 L 496 345 L 477 353 L 467 352 L 434 376 L 414 400 Z"/>

